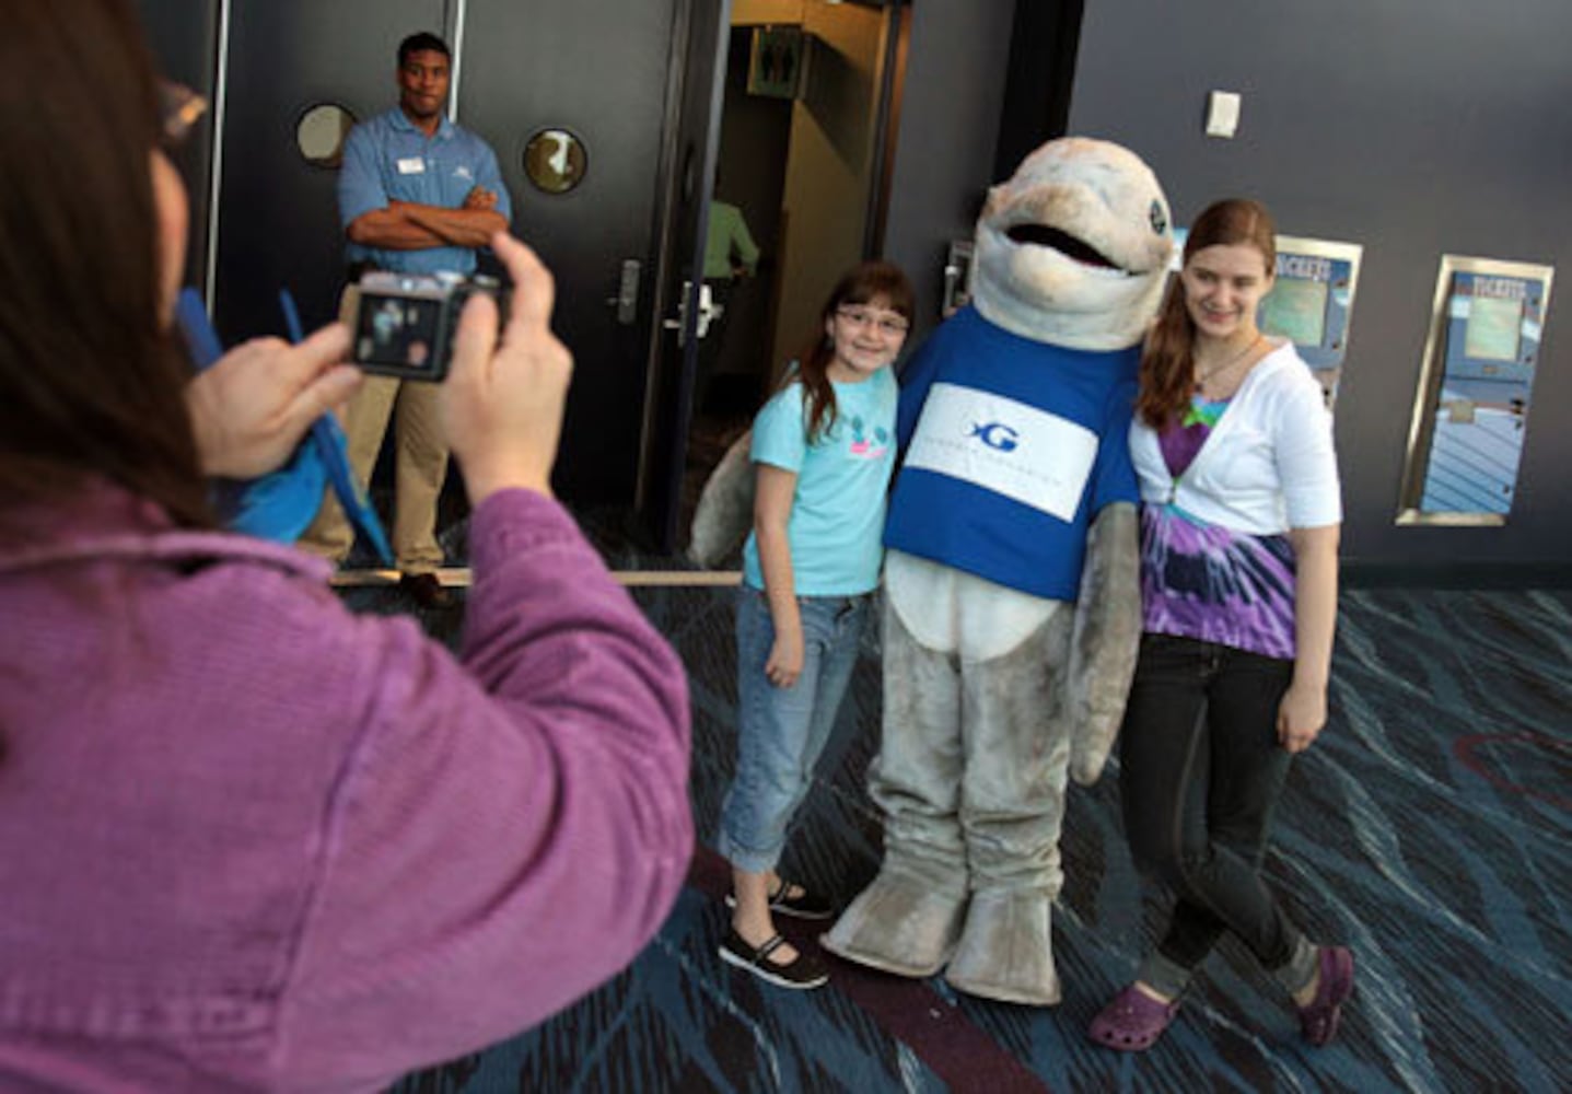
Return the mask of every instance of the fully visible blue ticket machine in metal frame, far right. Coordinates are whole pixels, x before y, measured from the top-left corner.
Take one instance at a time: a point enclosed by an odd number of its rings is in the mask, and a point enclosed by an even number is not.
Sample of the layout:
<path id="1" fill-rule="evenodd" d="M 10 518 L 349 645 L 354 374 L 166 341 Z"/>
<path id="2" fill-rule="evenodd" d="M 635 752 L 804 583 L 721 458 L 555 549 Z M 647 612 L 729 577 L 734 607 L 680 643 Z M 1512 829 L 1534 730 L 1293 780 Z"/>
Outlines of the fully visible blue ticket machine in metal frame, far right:
<path id="1" fill-rule="evenodd" d="M 1553 274 L 1442 256 L 1398 523 L 1506 522 Z"/>

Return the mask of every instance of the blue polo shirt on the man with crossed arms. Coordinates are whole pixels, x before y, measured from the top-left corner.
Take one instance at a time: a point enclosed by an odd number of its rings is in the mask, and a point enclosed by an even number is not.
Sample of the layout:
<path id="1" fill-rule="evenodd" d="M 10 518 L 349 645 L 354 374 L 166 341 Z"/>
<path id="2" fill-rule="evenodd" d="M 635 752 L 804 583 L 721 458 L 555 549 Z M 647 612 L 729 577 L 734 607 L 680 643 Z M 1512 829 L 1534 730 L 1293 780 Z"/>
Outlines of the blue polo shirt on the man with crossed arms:
<path id="1" fill-rule="evenodd" d="M 508 187 L 503 185 L 497 154 L 484 140 L 446 118 L 435 134 L 426 137 L 399 107 L 393 107 L 349 130 L 344 165 L 338 173 L 338 218 L 347 229 L 355 217 L 385 209 L 388 201 L 457 209 L 476 185 L 497 195 L 497 212 L 511 222 Z M 346 258 L 399 274 L 475 270 L 475 251 L 468 247 L 382 250 L 349 244 Z"/>

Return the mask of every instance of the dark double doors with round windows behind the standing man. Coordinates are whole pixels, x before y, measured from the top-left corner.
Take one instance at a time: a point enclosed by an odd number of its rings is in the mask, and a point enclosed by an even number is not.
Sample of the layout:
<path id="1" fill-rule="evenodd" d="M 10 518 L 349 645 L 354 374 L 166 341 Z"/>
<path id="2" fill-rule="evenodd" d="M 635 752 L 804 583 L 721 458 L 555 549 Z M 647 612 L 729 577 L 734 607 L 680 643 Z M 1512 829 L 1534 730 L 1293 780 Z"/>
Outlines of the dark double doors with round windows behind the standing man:
<path id="1" fill-rule="evenodd" d="M 637 505 L 645 528 L 670 538 L 693 362 L 692 338 L 662 324 L 701 261 L 728 14 L 729 0 L 233 0 L 220 333 L 281 333 L 285 286 L 308 325 L 333 318 L 336 171 L 300 156 L 296 129 L 321 104 L 362 119 L 390 108 L 398 42 L 442 33 L 457 121 L 497 151 L 514 231 L 556 275 L 555 327 L 577 363 L 558 494 L 575 506 Z M 531 154 L 536 168 L 563 168 L 555 184 L 531 181 Z"/>

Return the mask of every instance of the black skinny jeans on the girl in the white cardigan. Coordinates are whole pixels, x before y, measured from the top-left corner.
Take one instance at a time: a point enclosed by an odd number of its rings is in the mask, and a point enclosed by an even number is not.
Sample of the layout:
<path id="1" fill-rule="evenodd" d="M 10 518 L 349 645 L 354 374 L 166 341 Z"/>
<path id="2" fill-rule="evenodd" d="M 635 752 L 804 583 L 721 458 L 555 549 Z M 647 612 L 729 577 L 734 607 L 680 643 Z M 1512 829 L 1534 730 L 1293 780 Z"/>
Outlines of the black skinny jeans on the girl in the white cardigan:
<path id="1" fill-rule="evenodd" d="M 1137 866 L 1177 896 L 1157 953 L 1196 968 L 1232 931 L 1269 970 L 1300 946 L 1261 880 L 1292 754 L 1276 715 L 1294 662 L 1148 633 L 1121 731 L 1124 830 Z"/>

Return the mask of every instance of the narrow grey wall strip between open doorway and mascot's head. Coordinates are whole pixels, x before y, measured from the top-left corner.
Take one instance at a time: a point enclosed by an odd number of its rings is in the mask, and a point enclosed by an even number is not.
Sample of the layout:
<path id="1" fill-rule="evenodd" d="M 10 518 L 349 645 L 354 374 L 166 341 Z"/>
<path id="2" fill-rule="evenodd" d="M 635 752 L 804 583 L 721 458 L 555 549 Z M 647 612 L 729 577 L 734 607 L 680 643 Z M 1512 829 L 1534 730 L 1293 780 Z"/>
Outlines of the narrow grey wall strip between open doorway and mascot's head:
<path id="1" fill-rule="evenodd" d="M 1031 3 L 1033 0 L 1023 0 Z M 994 178 L 1014 0 L 915 0 L 883 258 L 916 289 L 916 332 L 938 319 L 945 253 L 971 239 Z"/>

